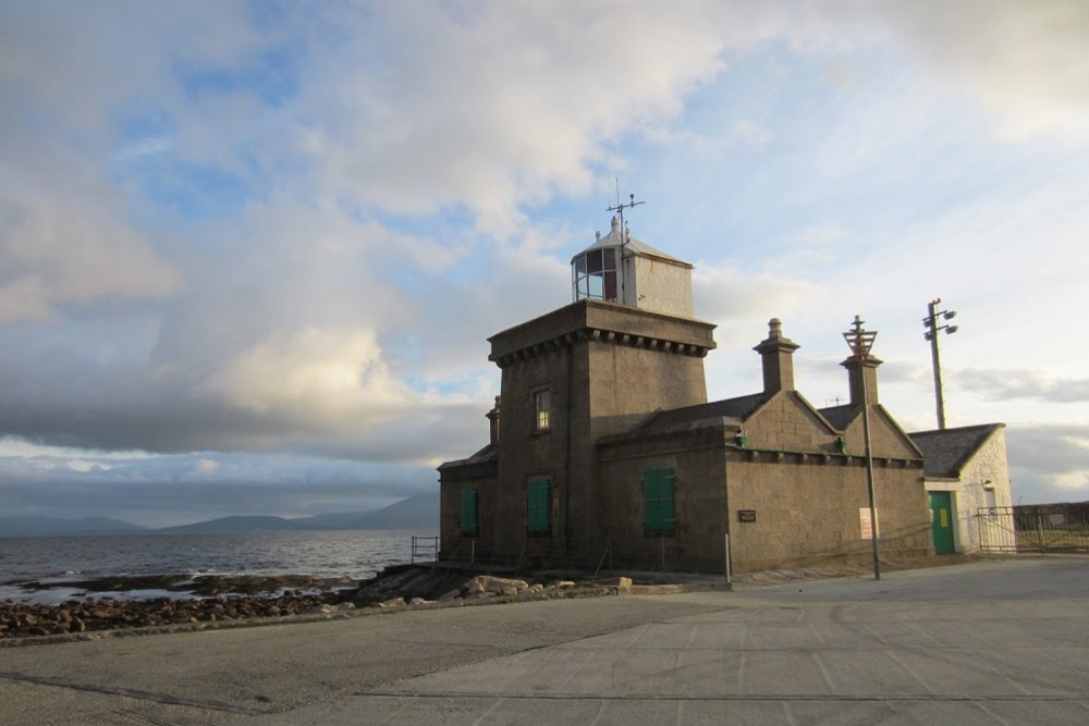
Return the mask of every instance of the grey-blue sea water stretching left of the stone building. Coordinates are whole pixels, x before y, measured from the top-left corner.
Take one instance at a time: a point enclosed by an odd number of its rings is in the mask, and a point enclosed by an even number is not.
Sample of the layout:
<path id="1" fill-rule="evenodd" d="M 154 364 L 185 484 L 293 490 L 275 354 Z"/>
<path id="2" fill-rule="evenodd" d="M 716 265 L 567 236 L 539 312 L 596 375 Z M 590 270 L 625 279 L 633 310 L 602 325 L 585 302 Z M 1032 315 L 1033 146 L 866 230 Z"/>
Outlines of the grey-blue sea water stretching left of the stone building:
<path id="1" fill-rule="evenodd" d="M 366 579 L 413 559 L 413 537 L 435 559 L 437 529 L 237 534 L 0 537 L 0 601 L 61 602 L 82 591 L 64 582 L 119 575 L 310 575 Z M 20 582 L 58 587 L 27 590 Z M 96 595 L 100 593 L 94 593 Z M 152 596 L 154 592 L 110 593 Z"/>

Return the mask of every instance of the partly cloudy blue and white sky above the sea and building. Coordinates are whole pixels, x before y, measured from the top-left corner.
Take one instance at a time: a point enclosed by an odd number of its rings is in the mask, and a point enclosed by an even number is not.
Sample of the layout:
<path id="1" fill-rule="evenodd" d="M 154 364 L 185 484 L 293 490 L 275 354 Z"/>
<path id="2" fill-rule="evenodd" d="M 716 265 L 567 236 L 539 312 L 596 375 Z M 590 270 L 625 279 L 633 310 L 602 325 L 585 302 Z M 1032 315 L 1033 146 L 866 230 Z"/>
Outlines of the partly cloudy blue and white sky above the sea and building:
<path id="1" fill-rule="evenodd" d="M 4 514 L 366 509 L 486 442 L 487 337 L 608 231 L 688 260 L 713 398 L 1004 421 L 1014 496 L 1089 500 L 1084 2 L 10 2 Z"/>

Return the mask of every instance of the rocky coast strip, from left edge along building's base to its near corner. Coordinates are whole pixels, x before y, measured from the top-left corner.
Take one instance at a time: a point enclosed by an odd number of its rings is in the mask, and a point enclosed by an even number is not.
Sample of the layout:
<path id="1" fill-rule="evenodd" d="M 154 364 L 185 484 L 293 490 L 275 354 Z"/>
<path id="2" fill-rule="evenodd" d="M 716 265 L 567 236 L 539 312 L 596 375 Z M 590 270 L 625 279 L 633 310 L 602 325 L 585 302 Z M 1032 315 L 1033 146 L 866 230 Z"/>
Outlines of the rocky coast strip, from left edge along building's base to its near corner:
<path id="1" fill-rule="evenodd" d="M 650 576 L 649 579 L 660 578 Z M 173 588 L 176 596 L 115 598 L 112 594 L 103 596 L 99 591 L 99 596 L 88 594 L 59 604 L 8 599 L 0 603 L 0 648 L 120 635 L 301 623 L 368 612 L 729 589 L 724 582 L 714 582 L 703 576 L 690 576 L 686 580 L 635 583 L 627 577 L 574 580 L 558 578 L 555 574 L 514 579 L 479 569 L 433 565 L 388 567 L 355 587 L 342 587 L 345 585 L 343 579 L 298 575 L 98 578 L 81 585 L 109 588 L 109 592 Z M 44 583 L 42 587 L 60 586 Z"/>

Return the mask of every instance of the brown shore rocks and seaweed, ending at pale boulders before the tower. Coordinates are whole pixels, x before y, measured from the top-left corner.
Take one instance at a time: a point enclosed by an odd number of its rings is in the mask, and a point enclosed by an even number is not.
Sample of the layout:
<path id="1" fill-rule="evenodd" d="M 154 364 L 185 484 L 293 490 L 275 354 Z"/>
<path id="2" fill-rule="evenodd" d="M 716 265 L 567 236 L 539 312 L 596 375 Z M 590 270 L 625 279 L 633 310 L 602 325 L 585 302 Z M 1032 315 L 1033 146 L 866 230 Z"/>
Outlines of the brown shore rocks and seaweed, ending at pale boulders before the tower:
<path id="1" fill-rule="evenodd" d="M 631 580 L 627 580 L 631 583 Z M 411 607 L 453 601 L 577 594 L 573 580 L 519 580 L 467 570 L 418 566 L 391 567 L 379 576 L 352 580 L 307 576 L 200 577 L 163 575 L 113 577 L 82 582 L 19 583 L 26 590 L 56 587 L 88 591 L 59 604 L 0 602 L 0 642 L 131 628 L 229 623 L 290 616 L 328 616 L 356 608 Z M 585 590 L 586 583 L 583 583 Z M 95 596 L 89 592 L 166 590 L 178 596 Z"/>

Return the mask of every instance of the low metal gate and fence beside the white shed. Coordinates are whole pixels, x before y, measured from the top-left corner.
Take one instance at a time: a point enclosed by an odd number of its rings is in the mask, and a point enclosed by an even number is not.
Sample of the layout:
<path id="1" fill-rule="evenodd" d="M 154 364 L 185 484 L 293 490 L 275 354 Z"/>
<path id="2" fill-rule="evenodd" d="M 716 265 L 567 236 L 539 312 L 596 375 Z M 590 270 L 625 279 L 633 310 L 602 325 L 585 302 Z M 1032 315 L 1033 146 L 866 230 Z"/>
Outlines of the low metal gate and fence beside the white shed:
<path id="1" fill-rule="evenodd" d="M 1052 507 L 982 507 L 976 527 L 983 552 L 1089 552 L 1089 517 Z"/>

